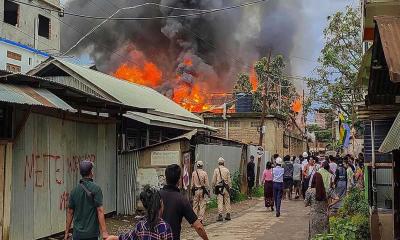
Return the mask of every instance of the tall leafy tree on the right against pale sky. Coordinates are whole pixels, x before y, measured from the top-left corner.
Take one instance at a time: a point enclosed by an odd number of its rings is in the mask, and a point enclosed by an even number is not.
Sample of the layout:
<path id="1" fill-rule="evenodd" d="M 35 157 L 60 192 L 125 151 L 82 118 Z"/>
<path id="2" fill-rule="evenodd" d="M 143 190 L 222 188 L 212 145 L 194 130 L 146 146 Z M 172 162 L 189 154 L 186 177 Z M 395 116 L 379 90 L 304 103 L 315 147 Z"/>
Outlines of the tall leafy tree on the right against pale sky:
<path id="1" fill-rule="evenodd" d="M 328 17 L 325 45 L 318 58 L 317 77 L 307 78 L 313 103 L 354 115 L 356 102 L 364 100 L 357 82 L 362 59 L 361 11 L 347 6 Z"/>

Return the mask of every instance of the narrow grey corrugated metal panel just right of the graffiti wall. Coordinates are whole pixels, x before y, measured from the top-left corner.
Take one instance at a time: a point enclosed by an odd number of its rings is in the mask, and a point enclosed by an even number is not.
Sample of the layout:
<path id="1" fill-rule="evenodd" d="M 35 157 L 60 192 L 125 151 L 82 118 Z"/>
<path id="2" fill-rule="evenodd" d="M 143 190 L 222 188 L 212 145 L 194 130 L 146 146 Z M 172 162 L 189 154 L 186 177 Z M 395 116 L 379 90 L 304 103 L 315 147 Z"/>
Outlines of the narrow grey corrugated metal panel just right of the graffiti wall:
<path id="1" fill-rule="evenodd" d="M 138 166 L 139 152 L 118 155 L 118 214 L 133 215 L 136 211 Z"/>

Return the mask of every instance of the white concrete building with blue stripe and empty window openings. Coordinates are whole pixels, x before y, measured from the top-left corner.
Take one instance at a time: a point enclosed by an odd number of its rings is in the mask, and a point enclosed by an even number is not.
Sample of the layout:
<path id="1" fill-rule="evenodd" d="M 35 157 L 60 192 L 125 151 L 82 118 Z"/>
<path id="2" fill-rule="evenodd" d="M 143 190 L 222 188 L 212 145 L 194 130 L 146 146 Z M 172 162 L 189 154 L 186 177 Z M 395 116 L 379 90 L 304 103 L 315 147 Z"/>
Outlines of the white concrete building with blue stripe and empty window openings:
<path id="1" fill-rule="evenodd" d="M 0 0 L 0 69 L 26 73 L 60 52 L 59 0 Z M 52 9 L 49 11 L 47 9 Z"/>

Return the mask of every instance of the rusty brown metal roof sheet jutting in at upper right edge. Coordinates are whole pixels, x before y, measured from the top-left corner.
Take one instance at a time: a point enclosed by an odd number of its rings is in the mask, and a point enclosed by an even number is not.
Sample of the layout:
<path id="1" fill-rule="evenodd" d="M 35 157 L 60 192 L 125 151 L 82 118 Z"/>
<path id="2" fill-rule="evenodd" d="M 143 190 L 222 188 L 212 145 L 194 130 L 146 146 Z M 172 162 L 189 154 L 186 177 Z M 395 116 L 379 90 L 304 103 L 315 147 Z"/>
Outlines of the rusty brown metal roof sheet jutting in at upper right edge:
<path id="1" fill-rule="evenodd" d="M 390 80 L 400 82 L 400 17 L 377 16 L 375 21 L 389 67 Z"/>

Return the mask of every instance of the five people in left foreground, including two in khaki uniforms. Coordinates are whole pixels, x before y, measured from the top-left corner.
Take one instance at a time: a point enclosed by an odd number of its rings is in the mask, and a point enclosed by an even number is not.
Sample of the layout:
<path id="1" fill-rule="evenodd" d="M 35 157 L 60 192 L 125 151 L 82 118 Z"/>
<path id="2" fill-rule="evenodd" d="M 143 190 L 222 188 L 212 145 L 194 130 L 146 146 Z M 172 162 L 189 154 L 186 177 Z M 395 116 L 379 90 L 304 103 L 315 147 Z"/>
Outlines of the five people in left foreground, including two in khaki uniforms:
<path id="1" fill-rule="evenodd" d="M 224 165 L 225 160 L 220 157 L 211 181 L 218 202 L 217 221 L 231 220 L 232 181 L 230 172 Z M 169 165 L 165 169 L 166 184 L 162 189 L 145 186 L 140 193 L 140 200 L 146 212 L 143 219 L 131 231 L 120 236 L 108 234 L 104 218 L 103 194 L 101 188 L 93 181 L 93 163 L 82 161 L 79 170 L 82 180 L 70 194 L 65 240 L 97 240 L 100 236 L 107 240 L 179 240 L 183 218 L 202 239 L 208 240 L 203 221 L 206 197 L 210 196 L 210 186 L 202 161 L 196 163 L 196 169 L 192 173 L 193 204 L 180 192 L 179 184 L 182 178 L 180 166 Z M 223 218 L 224 210 L 225 218 Z M 71 235 L 69 231 L 72 224 L 74 227 Z"/>

